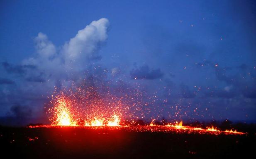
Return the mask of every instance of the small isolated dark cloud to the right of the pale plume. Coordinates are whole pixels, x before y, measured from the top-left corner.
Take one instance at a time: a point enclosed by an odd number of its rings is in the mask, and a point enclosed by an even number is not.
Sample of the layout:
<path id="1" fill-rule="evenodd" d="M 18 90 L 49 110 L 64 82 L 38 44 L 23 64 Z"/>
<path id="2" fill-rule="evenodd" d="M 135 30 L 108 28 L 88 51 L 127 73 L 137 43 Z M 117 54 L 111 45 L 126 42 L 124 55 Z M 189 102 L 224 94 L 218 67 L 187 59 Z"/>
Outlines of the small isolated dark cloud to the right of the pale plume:
<path id="1" fill-rule="evenodd" d="M 161 69 L 149 69 L 148 65 L 130 71 L 132 79 L 157 79 L 163 77 L 163 75 Z"/>

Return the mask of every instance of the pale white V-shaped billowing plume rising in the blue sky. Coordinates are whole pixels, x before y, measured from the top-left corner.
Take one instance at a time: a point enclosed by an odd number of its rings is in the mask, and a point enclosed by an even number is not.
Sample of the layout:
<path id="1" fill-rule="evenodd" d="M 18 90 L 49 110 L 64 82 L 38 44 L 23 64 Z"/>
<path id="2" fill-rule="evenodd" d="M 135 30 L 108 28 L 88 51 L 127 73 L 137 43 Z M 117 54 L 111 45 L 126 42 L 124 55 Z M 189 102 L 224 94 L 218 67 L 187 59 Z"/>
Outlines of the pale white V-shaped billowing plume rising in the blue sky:
<path id="1" fill-rule="evenodd" d="M 73 74 L 84 71 L 91 60 L 100 59 L 98 48 L 107 39 L 108 26 L 109 21 L 105 18 L 93 21 L 59 50 L 44 33 L 38 33 L 34 38 L 36 55 L 24 59 L 22 65 L 37 66 L 32 72 L 36 76 L 43 72 L 47 79 L 54 81 L 70 79 Z"/>

